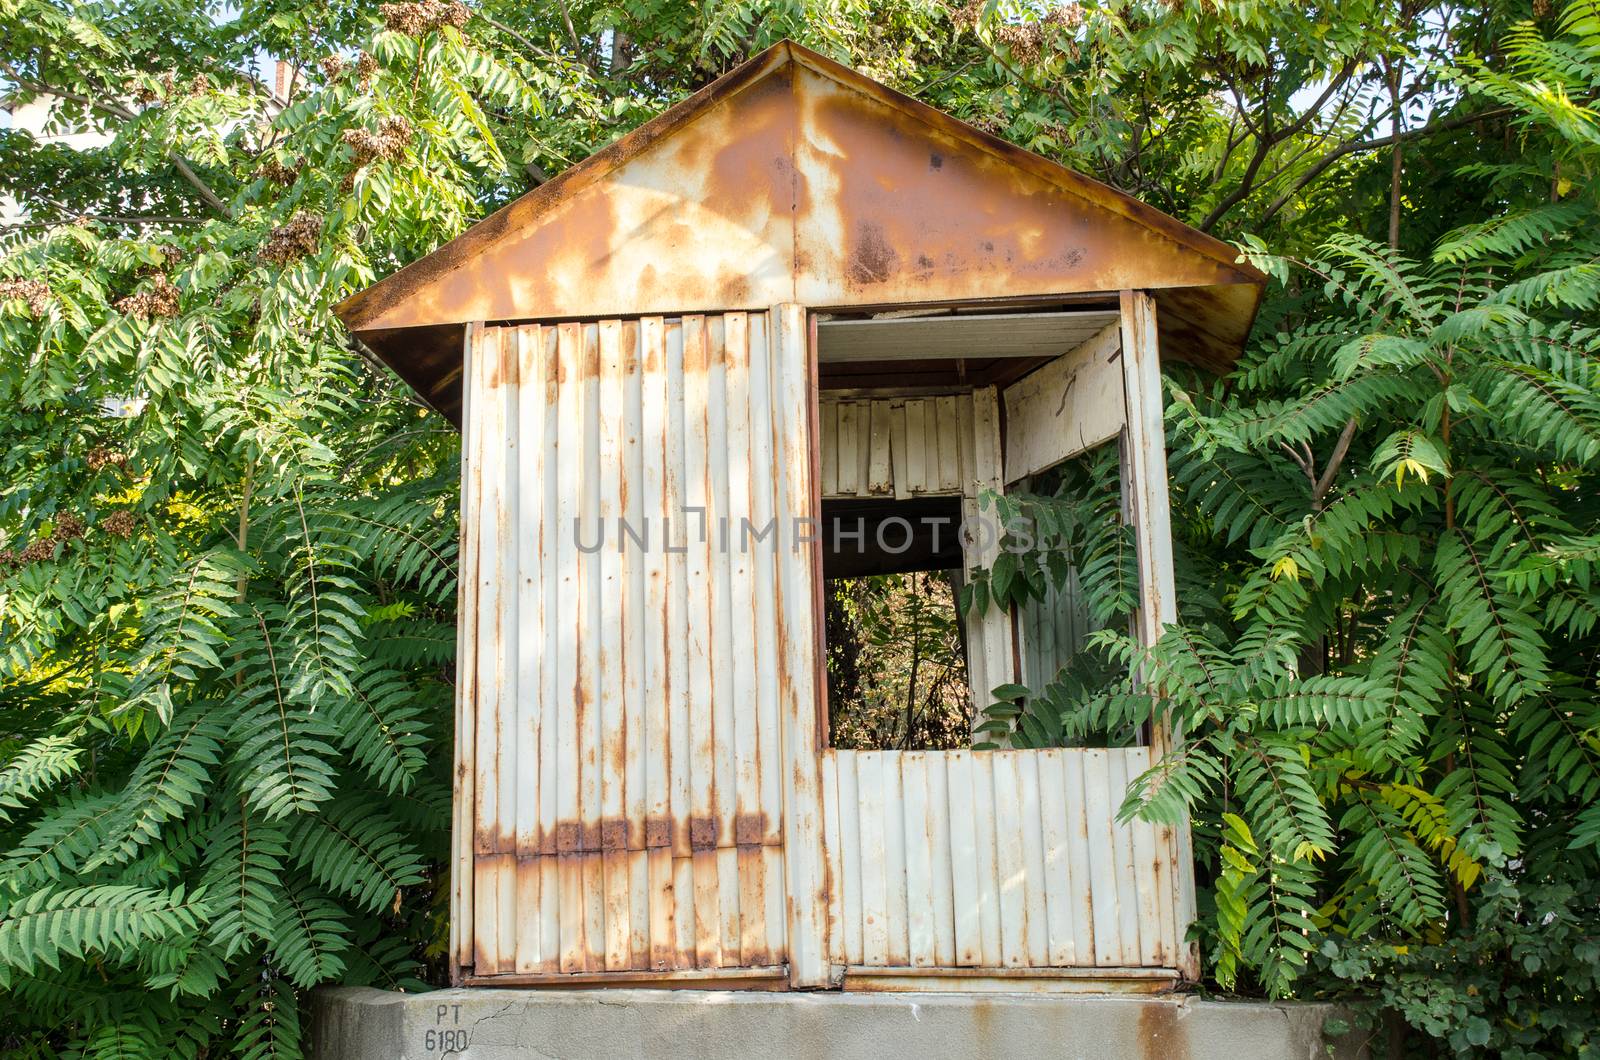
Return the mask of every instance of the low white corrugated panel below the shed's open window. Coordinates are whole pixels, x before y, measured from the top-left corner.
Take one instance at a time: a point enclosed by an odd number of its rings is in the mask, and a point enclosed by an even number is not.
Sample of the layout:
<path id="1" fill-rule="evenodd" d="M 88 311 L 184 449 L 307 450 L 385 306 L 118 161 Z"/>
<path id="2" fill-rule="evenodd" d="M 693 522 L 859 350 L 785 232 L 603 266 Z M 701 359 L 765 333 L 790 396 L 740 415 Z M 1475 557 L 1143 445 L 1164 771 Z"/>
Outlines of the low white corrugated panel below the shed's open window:
<path id="1" fill-rule="evenodd" d="M 1115 823 L 1149 748 L 829 751 L 834 961 L 1171 969 L 1170 828 Z"/>

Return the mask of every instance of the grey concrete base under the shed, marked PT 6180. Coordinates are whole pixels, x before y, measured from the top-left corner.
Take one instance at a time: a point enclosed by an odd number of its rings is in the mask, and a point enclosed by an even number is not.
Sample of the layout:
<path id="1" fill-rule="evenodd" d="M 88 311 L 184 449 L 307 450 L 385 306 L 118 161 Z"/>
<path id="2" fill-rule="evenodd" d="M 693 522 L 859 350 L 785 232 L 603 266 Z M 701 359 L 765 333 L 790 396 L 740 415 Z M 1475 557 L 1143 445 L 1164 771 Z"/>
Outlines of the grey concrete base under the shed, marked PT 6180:
<path id="1" fill-rule="evenodd" d="M 339 988 L 314 999 L 317 1060 L 1312 1060 L 1323 1004 L 1187 996 L 835 994 L 701 990 Z"/>

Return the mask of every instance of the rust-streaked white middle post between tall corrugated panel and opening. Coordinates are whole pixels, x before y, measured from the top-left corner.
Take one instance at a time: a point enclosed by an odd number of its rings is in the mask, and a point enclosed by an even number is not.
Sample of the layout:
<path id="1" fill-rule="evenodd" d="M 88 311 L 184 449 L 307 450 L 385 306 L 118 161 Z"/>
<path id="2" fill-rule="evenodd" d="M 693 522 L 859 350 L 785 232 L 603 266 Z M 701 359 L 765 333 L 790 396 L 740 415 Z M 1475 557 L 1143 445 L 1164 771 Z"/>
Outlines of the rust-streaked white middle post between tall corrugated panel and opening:
<path id="1" fill-rule="evenodd" d="M 789 905 L 789 985 L 797 990 L 830 986 L 827 908 L 827 858 L 822 845 L 822 729 L 819 724 L 821 677 L 819 538 L 805 519 L 818 517 L 816 477 L 816 349 L 805 306 L 781 303 L 771 309 L 773 391 L 778 424 L 776 456 L 784 484 L 782 517 L 794 528 L 789 548 L 779 533 L 779 621 L 784 631 L 786 689 L 782 690 L 781 746 L 784 802 L 784 882 Z M 806 536 L 810 541 L 806 541 Z"/>

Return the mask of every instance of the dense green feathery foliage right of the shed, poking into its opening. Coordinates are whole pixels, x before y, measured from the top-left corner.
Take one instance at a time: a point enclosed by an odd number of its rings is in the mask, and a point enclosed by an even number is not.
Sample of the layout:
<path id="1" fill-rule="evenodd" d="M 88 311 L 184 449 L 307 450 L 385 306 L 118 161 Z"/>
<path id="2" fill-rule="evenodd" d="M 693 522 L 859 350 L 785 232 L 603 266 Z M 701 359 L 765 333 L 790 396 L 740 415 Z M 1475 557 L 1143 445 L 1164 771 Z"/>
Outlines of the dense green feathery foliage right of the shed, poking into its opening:
<path id="1" fill-rule="evenodd" d="M 1494 199 L 1430 253 L 1248 242 L 1280 283 L 1253 351 L 1222 383 L 1168 379 L 1181 624 L 1141 645 L 1102 623 L 1080 655 L 1110 687 L 1062 671 L 989 711 L 1022 746 L 1168 716 L 1182 741 L 1122 813 L 1195 818 L 1218 983 L 1374 990 L 1406 1055 L 1600 1034 L 1600 126 L 1573 102 L 1600 83 L 1597 27 L 1573 5 L 1456 77 L 1462 106 L 1514 115 L 1544 191 L 1462 165 Z M 1122 599 L 1120 572 L 1072 562 Z M 974 604 L 1026 583 L 997 565 Z"/>

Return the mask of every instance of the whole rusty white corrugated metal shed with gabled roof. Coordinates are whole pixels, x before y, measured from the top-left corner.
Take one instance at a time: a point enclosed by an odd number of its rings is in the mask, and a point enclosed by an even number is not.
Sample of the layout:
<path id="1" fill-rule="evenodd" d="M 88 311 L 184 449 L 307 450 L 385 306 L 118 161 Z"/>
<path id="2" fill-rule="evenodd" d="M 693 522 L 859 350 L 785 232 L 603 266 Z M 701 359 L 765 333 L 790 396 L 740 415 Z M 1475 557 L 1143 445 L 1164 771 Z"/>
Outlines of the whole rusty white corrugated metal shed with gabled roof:
<path id="1" fill-rule="evenodd" d="M 1195 978 L 1187 829 L 1115 820 L 1168 735 L 834 749 L 814 530 L 1120 445 L 1154 639 L 1158 362 L 1226 368 L 1261 283 L 784 42 L 342 303 L 464 436 L 458 982 Z M 970 618 L 971 687 L 1051 673 L 1069 624 Z"/>

